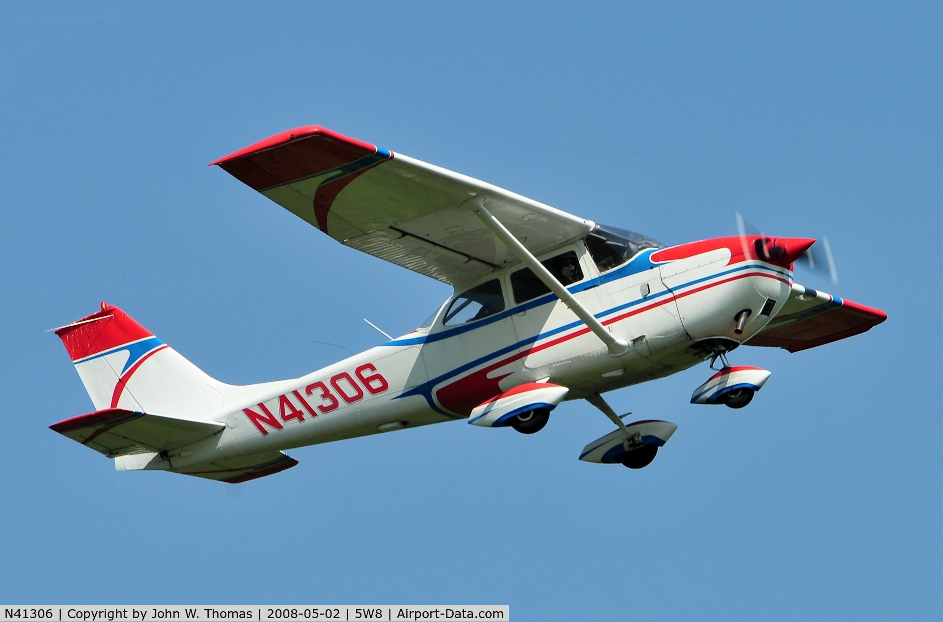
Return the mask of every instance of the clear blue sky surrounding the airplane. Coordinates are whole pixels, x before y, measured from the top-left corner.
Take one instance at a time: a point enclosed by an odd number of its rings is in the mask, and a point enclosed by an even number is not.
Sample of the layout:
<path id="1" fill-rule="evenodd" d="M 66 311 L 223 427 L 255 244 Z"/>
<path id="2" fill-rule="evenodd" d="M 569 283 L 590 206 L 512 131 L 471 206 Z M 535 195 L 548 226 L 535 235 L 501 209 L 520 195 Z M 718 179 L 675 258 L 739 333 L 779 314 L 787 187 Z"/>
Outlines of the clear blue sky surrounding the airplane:
<path id="1" fill-rule="evenodd" d="M 939 5 L 350 4 L 0 6 L 0 602 L 938 619 Z M 207 168 L 308 124 L 670 244 L 736 210 L 827 236 L 840 282 L 797 280 L 890 319 L 738 349 L 773 372 L 742 411 L 688 404 L 706 364 L 607 395 L 679 425 L 637 472 L 577 461 L 611 429 L 585 402 L 534 436 L 296 449 L 238 486 L 117 473 L 47 429 L 91 401 L 43 331 L 102 300 L 243 383 L 451 293 Z"/>

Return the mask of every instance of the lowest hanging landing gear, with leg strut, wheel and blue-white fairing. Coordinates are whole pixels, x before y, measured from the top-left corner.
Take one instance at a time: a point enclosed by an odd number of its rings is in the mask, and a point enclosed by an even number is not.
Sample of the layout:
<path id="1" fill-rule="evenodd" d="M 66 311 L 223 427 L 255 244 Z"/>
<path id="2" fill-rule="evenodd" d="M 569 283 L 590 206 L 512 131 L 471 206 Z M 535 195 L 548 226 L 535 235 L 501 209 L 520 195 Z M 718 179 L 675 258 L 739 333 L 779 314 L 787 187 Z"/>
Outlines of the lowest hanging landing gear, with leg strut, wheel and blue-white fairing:
<path id="1" fill-rule="evenodd" d="M 586 399 L 609 417 L 618 429 L 585 446 L 580 455 L 580 460 L 585 462 L 619 463 L 630 469 L 640 469 L 652 463 L 658 447 L 665 445 L 678 429 L 668 421 L 637 421 L 626 425 L 622 418 L 631 412 L 620 417 L 599 394 L 589 395 Z"/>

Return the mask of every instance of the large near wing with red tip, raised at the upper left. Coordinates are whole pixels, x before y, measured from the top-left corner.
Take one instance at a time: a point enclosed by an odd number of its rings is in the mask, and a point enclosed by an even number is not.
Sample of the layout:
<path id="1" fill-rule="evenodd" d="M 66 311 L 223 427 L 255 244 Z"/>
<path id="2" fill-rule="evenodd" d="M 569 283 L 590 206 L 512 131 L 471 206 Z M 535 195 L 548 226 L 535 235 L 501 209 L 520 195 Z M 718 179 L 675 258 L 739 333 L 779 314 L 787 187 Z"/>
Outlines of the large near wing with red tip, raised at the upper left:
<path id="1" fill-rule="evenodd" d="M 342 244 L 451 285 L 518 261 L 471 210 L 488 210 L 535 254 L 594 223 L 484 181 L 320 126 L 211 162 Z"/>

